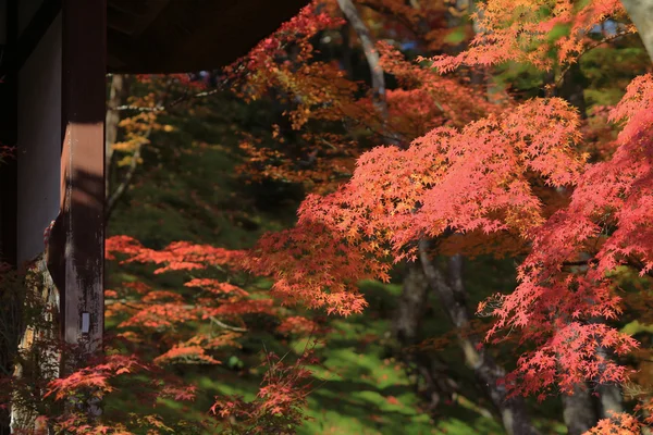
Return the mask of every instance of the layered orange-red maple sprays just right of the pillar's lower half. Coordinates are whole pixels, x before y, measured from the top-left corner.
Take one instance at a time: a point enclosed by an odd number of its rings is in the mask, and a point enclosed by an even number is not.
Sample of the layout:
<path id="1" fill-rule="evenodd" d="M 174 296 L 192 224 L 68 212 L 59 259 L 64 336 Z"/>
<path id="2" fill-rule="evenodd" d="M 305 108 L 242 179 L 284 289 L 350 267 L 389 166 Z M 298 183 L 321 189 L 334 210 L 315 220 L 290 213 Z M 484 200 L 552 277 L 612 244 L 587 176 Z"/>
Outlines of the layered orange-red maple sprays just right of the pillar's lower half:
<path id="1" fill-rule="evenodd" d="M 121 257 L 121 263 L 155 263 L 155 273 L 193 271 L 219 274 L 244 268 L 244 252 L 205 245 L 173 243 L 161 250 L 145 248 L 126 236 L 107 239 L 107 257 Z M 218 268 L 218 269 L 215 269 Z M 272 272 L 271 272 L 272 273 Z M 122 321 L 120 336 L 131 343 L 148 341 L 156 335 L 161 352 L 153 362 L 220 363 L 220 352 L 238 348 L 246 330 L 245 316 L 266 314 L 281 318 L 280 333 L 304 335 L 315 330 L 307 319 L 289 316 L 274 306 L 268 295 L 254 295 L 237 285 L 213 277 L 193 277 L 183 291 L 158 290 L 145 283 L 123 283 L 106 291 L 108 318 Z M 304 321 L 304 322 L 303 322 Z M 226 322 L 226 323 L 225 323 Z M 189 325 L 207 324 L 197 331 Z"/>

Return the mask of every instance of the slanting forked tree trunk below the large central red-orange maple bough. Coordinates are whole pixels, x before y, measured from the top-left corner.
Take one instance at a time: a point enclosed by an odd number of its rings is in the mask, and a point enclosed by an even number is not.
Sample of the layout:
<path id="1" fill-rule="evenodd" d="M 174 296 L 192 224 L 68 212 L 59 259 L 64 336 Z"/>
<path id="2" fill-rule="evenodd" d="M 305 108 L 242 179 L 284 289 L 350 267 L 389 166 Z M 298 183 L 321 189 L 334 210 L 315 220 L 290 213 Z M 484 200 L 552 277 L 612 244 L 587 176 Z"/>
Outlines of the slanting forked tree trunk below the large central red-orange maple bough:
<path id="1" fill-rule="evenodd" d="M 449 320 L 457 328 L 469 324 L 469 313 L 465 303 L 465 286 L 463 283 L 463 257 L 453 256 L 448 260 L 448 276 L 445 278 L 429 257 L 430 243 L 420 240 L 419 261 L 431 288 L 438 294 L 440 302 Z M 505 375 L 505 370 L 497 365 L 483 350 L 478 350 L 481 343 L 472 336 L 458 336 L 458 343 L 465 355 L 465 362 L 475 371 L 476 377 L 498 411 L 504 428 L 509 435 L 530 435 L 539 432 L 533 427 L 521 397 L 507 399 L 507 391 L 497 381 Z"/>

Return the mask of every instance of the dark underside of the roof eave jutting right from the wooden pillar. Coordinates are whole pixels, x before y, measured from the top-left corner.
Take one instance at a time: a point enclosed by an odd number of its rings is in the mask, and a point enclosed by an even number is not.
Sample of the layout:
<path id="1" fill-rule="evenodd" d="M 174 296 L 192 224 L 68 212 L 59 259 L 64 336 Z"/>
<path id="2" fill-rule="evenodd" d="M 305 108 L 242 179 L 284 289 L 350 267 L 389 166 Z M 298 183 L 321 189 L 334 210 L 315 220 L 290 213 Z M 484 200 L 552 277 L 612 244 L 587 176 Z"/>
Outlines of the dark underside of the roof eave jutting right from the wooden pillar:
<path id="1" fill-rule="evenodd" d="M 245 55 L 306 0 L 109 0 L 108 69 L 114 73 L 213 70 Z"/>

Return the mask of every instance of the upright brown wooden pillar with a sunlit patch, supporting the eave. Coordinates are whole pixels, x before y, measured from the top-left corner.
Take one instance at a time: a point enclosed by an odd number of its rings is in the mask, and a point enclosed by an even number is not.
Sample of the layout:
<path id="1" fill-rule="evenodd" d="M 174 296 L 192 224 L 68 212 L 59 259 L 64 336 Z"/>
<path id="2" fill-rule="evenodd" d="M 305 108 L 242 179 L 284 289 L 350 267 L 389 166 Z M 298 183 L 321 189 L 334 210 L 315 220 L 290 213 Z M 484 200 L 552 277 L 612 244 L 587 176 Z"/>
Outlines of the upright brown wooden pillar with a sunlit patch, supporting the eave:
<path id="1" fill-rule="evenodd" d="M 103 333 L 106 0 L 63 0 L 62 336 L 91 352 Z M 54 228 L 53 228 L 54 232 Z M 61 249 L 60 249 L 61 250 Z"/>

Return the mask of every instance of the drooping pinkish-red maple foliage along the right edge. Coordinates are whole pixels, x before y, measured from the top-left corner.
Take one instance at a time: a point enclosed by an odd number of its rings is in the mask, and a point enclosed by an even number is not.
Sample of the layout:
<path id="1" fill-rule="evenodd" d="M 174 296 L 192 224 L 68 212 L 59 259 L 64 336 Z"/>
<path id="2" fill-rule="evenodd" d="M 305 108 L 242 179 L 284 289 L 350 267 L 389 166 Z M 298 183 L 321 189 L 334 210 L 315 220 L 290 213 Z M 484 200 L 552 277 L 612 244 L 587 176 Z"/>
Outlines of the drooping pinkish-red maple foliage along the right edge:
<path id="1" fill-rule="evenodd" d="M 582 361 L 562 360 L 555 381 L 569 389 L 579 378 L 624 382 L 624 368 L 601 360 L 596 347 L 625 355 L 637 343 L 614 328 L 579 319 L 615 319 L 620 298 L 609 272 L 630 265 L 645 274 L 653 264 L 653 77 L 638 77 L 612 112 L 624 122 L 617 150 L 608 161 L 593 164 L 578 181 L 568 207 L 556 212 L 532 237 L 532 251 L 519 268 L 519 286 L 502 297 L 494 314 L 498 328 L 520 327 L 540 341 L 540 353 L 525 355 L 518 373 L 521 385 L 534 390 L 552 380 L 530 377 L 533 364 L 551 364 L 560 352 L 582 355 Z M 584 273 L 563 272 L 566 261 L 588 258 Z M 565 353 L 566 355 L 566 353 Z"/>

